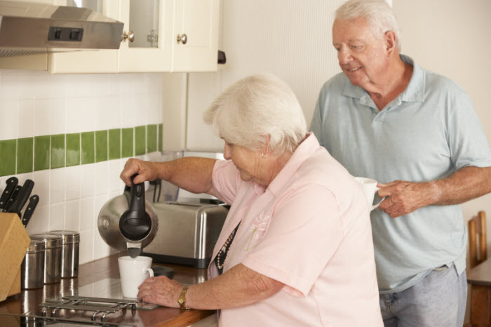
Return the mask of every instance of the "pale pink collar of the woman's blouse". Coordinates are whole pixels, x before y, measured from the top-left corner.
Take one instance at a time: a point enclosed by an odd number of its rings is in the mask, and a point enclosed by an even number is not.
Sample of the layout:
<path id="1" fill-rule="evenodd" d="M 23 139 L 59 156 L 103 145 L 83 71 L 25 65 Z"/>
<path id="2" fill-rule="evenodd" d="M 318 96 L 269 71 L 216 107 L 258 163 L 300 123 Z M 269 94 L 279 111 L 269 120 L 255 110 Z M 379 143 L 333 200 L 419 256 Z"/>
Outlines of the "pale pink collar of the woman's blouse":
<path id="1" fill-rule="evenodd" d="M 316 152 L 316 150 L 321 147 L 319 142 L 314 135 L 314 133 L 307 133 L 307 137 L 303 140 L 302 143 L 295 149 L 292 156 L 285 164 L 283 169 L 276 175 L 276 178 L 269 183 L 268 189 L 273 194 L 276 195 L 283 187 L 290 182 L 295 172 L 302 166 L 302 164 L 309 159 L 309 157 Z"/>

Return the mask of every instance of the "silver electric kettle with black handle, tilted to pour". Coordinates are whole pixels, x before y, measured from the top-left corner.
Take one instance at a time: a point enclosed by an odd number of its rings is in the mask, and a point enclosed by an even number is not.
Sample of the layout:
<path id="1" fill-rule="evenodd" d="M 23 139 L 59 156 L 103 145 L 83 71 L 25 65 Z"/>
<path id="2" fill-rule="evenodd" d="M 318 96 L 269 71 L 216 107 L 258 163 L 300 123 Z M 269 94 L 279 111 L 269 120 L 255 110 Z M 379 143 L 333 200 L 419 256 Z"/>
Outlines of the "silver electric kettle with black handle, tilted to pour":
<path id="1" fill-rule="evenodd" d="M 97 228 L 107 245 L 128 251 L 132 258 L 149 245 L 159 229 L 152 203 L 145 201 L 144 183 L 125 186 L 123 194 L 107 201 L 100 209 Z"/>

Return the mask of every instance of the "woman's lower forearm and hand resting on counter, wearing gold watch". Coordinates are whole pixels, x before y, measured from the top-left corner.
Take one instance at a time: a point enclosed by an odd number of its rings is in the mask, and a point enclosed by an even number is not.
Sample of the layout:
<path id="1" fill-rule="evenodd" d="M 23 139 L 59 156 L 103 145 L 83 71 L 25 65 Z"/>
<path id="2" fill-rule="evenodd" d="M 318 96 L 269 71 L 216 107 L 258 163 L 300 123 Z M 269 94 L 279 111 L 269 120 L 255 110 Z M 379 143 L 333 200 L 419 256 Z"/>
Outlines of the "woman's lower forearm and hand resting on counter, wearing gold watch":
<path id="1" fill-rule="evenodd" d="M 232 267 L 215 279 L 190 286 L 186 306 L 191 309 L 227 309 L 242 307 L 269 298 L 284 284 L 242 264 Z M 182 285 L 164 276 L 151 277 L 142 283 L 138 299 L 166 307 L 179 307 Z"/>

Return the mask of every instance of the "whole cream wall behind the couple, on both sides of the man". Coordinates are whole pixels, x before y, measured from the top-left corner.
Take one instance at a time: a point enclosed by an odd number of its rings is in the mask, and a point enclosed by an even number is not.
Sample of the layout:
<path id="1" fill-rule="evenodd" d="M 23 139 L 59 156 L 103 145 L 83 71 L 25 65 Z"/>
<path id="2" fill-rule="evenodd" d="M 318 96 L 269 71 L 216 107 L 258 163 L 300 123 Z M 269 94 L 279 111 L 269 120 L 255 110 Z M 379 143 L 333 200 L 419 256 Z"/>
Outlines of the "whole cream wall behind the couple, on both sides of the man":
<path id="1" fill-rule="evenodd" d="M 217 74 L 189 74 L 187 148 L 222 149 L 222 141 L 203 124 L 202 112 L 220 91 L 255 72 L 272 72 L 288 82 L 310 123 L 323 82 L 340 71 L 331 27 L 332 13 L 343 2 L 223 0 L 219 48 L 227 53 L 227 64 L 219 65 Z M 491 140 L 491 1 L 389 2 L 401 23 L 402 52 L 462 86 Z M 491 194 L 463 205 L 466 220 L 480 210 L 491 215 Z M 491 224 L 488 229 L 489 234 Z"/>

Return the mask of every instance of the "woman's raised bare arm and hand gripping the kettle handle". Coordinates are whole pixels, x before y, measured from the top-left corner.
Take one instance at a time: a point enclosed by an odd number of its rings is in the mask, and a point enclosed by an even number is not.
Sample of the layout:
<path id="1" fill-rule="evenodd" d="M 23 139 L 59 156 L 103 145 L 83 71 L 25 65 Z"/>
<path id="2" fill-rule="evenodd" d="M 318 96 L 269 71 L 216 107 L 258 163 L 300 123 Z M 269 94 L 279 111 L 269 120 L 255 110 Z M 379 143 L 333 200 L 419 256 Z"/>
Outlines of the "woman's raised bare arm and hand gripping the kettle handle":
<path id="1" fill-rule="evenodd" d="M 189 192 L 215 195 L 211 181 L 215 161 L 194 156 L 163 162 L 128 159 L 121 172 L 121 180 L 131 185 L 131 176 L 137 173 L 135 184 L 161 178 Z"/>

